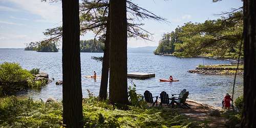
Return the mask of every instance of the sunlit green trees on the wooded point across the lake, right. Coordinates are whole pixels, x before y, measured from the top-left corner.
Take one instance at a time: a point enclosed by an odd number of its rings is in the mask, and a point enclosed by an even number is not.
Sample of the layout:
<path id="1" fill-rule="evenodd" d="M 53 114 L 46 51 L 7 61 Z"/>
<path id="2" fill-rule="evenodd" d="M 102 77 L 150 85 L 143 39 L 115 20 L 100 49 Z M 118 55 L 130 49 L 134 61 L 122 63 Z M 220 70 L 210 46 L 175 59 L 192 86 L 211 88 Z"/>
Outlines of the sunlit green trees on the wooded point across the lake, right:
<path id="1" fill-rule="evenodd" d="M 178 26 L 174 31 L 162 35 L 154 54 L 238 58 L 243 33 L 241 9 L 220 14 L 222 18 L 219 19 Z"/>

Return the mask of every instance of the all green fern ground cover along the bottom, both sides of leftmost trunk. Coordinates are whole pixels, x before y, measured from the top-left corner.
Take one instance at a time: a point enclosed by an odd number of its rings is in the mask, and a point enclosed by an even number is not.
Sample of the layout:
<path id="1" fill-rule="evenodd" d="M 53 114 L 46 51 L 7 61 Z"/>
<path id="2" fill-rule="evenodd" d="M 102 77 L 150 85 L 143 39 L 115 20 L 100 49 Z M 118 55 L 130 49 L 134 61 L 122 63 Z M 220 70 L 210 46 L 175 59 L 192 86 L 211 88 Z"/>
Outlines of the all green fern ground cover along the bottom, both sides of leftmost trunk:
<path id="1" fill-rule="evenodd" d="M 108 101 L 90 96 L 83 99 L 84 127 L 202 127 L 169 108 L 129 106 L 113 110 Z M 0 127 L 60 127 L 62 103 L 17 97 L 0 99 Z"/>

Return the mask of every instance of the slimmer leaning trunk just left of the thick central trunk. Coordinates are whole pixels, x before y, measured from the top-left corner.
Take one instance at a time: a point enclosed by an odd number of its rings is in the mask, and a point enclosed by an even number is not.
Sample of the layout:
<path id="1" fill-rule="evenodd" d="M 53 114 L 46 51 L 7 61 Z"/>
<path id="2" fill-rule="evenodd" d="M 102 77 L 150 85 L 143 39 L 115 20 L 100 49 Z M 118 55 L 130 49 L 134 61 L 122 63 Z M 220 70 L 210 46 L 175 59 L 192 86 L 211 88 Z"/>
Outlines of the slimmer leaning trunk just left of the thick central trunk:
<path id="1" fill-rule="evenodd" d="M 110 13 L 109 13 L 110 14 Z M 101 71 L 101 81 L 99 90 L 99 99 L 106 99 L 106 93 L 108 90 L 108 80 L 109 80 L 109 67 L 110 67 L 110 20 L 108 16 L 108 22 L 106 23 L 106 34 L 104 41 L 104 54 L 102 61 L 102 71 Z"/>

